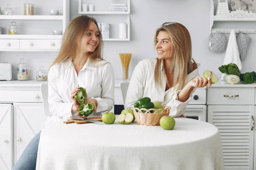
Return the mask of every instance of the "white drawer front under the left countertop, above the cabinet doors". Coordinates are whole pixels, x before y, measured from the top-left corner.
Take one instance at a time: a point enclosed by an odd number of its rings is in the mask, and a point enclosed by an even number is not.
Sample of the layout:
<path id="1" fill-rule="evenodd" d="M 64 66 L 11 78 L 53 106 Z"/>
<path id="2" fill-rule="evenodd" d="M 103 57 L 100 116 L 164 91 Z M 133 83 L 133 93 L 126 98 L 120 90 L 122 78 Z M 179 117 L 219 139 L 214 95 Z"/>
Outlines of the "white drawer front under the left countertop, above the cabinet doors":
<path id="1" fill-rule="evenodd" d="M 41 91 L 0 91 L 0 102 L 43 102 Z"/>

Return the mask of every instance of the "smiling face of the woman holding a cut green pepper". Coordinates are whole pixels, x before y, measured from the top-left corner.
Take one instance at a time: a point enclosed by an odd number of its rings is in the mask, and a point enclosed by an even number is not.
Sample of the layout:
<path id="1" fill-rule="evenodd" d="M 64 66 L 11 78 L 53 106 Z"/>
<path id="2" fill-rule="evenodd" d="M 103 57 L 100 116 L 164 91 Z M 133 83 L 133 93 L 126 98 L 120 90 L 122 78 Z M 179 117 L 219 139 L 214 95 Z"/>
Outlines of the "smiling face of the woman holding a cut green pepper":
<path id="1" fill-rule="evenodd" d="M 99 44 L 99 30 L 95 23 L 91 22 L 89 29 L 81 40 L 80 51 L 93 52 Z"/>

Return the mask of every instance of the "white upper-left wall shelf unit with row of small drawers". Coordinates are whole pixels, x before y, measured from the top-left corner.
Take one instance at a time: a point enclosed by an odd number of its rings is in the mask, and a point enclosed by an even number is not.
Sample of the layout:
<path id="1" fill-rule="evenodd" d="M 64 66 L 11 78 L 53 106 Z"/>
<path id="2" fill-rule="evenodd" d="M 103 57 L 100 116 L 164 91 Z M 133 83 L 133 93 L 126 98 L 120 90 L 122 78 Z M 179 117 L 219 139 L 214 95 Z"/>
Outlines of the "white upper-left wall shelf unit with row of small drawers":
<path id="1" fill-rule="evenodd" d="M 62 2 L 60 3 L 62 15 L 0 15 L 0 20 L 22 20 L 24 25 L 29 20 L 55 20 L 61 22 L 62 30 L 61 28 L 60 30 L 64 33 L 70 22 L 70 0 L 58 1 Z M 8 30 L 7 27 L 5 29 Z M 60 49 L 62 35 L 51 35 L 44 32 L 34 33 L 34 35 L 33 33 L 32 35 L 22 34 L 22 31 L 19 33 L 16 35 L 0 34 L 0 51 L 59 51 Z"/>

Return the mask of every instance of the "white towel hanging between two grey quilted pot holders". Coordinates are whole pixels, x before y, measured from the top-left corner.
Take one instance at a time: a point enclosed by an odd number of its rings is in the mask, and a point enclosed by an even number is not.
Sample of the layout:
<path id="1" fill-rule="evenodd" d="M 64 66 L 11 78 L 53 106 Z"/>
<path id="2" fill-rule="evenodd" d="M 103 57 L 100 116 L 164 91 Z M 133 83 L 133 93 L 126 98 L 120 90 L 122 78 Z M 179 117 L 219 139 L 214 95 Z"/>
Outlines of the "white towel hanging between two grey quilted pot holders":
<path id="1" fill-rule="evenodd" d="M 229 63 L 236 64 L 238 66 L 239 70 L 241 71 L 242 63 L 241 63 L 241 59 L 239 56 L 237 42 L 236 42 L 236 33 L 233 29 L 230 31 L 230 38 L 228 40 L 227 51 L 225 54 L 223 65 L 227 65 Z M 223 80 L 224 75 L 225 74 L 221 75 L 220 80 Z"/>

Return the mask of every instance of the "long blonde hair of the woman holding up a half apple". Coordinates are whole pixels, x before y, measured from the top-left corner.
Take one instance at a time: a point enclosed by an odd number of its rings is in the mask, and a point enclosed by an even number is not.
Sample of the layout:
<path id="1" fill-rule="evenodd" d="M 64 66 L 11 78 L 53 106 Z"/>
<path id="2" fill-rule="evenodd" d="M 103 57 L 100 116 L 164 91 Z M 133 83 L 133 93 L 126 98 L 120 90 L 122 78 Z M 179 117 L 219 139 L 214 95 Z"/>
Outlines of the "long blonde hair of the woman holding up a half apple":
<path id="1" fill-rule="evenodd" d="M 171 38 L 172 50 L 174 50 L 174 53 L 172 52 L 172 57 L 174 57 L 174 62 L 172 63 L 172 73 L 174 73 L 173 87 L 178 84 L 177 90 L 181 90 L 186 83 L 187 75 L 197 68 L 197 64 L 192 58 L 192 43 L 189 31 L 180 23 L 163 23 L 156 31 L 154 37 L 155 45 L 157 44 L 157 36 L 160 31 L 166 31 Z M 154 77 L 155 83 L 158 85 L 162 84 L 161 64 L 162 61 L 157 58 Z M 163 70 L 165 71 L 165 69 Z"/>

